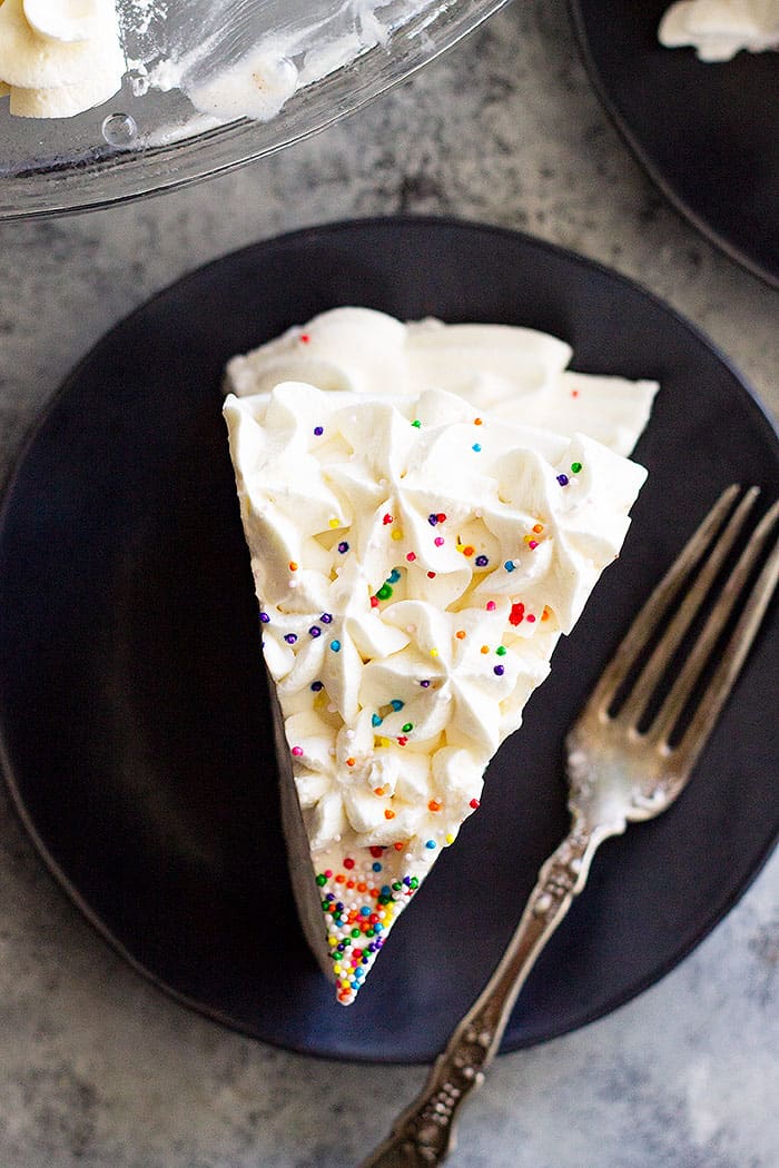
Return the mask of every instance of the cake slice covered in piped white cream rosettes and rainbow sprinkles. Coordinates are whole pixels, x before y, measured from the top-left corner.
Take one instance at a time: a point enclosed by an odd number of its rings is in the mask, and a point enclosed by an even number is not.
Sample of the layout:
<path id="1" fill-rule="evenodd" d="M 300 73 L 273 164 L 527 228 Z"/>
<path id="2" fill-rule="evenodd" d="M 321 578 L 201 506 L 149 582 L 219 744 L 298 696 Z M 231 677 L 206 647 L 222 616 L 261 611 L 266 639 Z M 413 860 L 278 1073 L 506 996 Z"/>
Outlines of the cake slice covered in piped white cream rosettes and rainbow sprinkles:
<path id="1" fill-rule="evenodd" d="M 460 396 L 224 405 L 312 950 L 349 1003 L 549 672 L 645 479 Z"/>

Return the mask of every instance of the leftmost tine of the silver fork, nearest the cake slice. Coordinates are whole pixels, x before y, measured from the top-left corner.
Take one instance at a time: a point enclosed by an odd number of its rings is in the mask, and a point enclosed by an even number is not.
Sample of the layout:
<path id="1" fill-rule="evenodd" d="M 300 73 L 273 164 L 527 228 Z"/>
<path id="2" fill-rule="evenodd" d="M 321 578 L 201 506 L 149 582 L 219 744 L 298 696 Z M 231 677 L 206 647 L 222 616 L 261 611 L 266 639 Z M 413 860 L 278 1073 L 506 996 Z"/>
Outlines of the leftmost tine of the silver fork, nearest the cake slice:
<path id="1" fill-rule="evenodd" d="M 635 659 L 655 630 L 660 617 L 666 612 L 689 570 L 709 545 L 714 533 L 719 529 L 739 491 L 740 487 L 738 484 L 726 487 L 697 530 L 690 536 L 679 557 L 674 561 L 631 625 L 614 656 L 601 673 L 584 712 L 604 717 L 619 687 L 633 667 Z"/>

